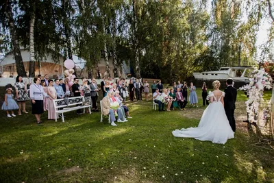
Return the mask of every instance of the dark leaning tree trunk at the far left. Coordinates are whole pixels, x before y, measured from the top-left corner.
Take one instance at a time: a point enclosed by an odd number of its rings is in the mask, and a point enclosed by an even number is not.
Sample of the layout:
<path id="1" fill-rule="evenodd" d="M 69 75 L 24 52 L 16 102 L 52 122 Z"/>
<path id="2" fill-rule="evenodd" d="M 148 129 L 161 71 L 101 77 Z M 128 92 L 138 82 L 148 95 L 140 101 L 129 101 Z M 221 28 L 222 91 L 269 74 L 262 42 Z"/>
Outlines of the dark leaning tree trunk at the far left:
<path id="1" fill-rule="evenodd" d="M 12 16 L 12 7 L 9 0 L 5 0 L 5 16 L 8 19 L 8 25 L 10 29 L 10 36 L 12 39 L 12 51 L 14 53 L 14 59 L 16 62 L 16 71 L 18 75 L 21 75 L 22 77 L 27 77 L 27 74 L 25 72 L 25 67 L 23 64 L 23 58 L 20 51 L 20 45 L 16 34 L 16 29 L 14 25 L 14 19 Z"/>

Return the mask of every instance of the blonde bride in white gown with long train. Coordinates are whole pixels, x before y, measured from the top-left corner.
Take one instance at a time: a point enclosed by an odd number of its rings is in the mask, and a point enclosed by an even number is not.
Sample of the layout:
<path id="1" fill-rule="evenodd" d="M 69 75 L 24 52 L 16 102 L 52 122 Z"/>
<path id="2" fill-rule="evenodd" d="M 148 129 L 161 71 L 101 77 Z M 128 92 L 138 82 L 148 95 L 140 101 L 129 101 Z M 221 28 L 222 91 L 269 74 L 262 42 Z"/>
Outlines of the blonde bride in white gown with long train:
<path id="1" fill-rule="evenodd" d="M 221 144 L 225 144 L 229 138 L 234 138 L 223 107 L 225 93 L 219 90 L 220 85 L 219 81 L 213 82 L 214 91 L 209 93 L 210 105 L 203 112 L 198 127 L 175 130 L 172 132 L 174 136 Z"/>

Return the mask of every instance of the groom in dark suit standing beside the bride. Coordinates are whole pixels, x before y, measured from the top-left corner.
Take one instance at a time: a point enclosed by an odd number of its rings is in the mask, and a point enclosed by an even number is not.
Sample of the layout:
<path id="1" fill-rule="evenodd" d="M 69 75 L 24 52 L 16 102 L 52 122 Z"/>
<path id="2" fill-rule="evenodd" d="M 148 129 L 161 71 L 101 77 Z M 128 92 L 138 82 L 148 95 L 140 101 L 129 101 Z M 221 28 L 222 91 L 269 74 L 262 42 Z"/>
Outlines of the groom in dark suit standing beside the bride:
<path id="1" fill-rule="evenodd" d="M 225 88 L 225 98 L 223 99 L 225 103 L 225 114 L 227 114 L 227 119 L 229 125 L 232 127 L 233 132 L 236 131 L 236 123 L 234 118 L 235 102 L 237 97 L 237 89 L 233 87 L 233 79 L 227 79 L 227 88 Z"/>

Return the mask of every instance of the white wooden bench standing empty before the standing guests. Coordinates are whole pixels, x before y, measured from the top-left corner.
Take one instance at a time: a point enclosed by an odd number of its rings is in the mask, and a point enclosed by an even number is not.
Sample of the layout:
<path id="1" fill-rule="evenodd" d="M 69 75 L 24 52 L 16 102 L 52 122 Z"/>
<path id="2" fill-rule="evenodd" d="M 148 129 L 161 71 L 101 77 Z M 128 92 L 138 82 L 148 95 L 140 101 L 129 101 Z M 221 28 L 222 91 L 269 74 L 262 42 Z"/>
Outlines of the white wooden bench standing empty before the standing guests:
<path id="1" fill-rule="evenodd" d="M 57 117 L 59 114 L 61 114 L 62 117 L 62 122 L 64 122 L 64 112 L 70 112 L 73 110 L 78 110 L 78 109 L 84 109 L 88 108 L 90 114 L 91 110 L 90 107 L 91 105 L 85 105 L 85 97 L 84 96 L 79 96 L 79 97 L 69 97 L 69 103 L 66 104 L 64 99 L 54 99 L 53 104 L 54 104 L 54 110 L 55 110 L 55 121 L 57 121 Z M 76 106 L 79 105 L 79 106 Z M 62 109 L 60 109 L 62 108 Z M 85 113 L 85 110 L 84 110 Z"/>

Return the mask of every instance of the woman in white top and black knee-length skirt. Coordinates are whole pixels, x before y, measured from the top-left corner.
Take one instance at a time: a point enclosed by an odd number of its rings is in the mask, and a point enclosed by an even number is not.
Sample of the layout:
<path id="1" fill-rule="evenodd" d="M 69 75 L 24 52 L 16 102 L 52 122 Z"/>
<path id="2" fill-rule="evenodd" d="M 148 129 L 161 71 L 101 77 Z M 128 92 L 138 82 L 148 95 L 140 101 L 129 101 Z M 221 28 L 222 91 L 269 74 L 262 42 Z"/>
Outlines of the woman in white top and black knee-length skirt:
<path id="1" fill-rule="evenodd" d="M 29 96 L 32 99 L 32 114 L 35 115 L 37 124 L 42 123 L 41 114 L 44 113 L 43 99 L 48 97 L 40 82 L 40 78 L 34 77 L 34 83 L 29 86 Z"/>

